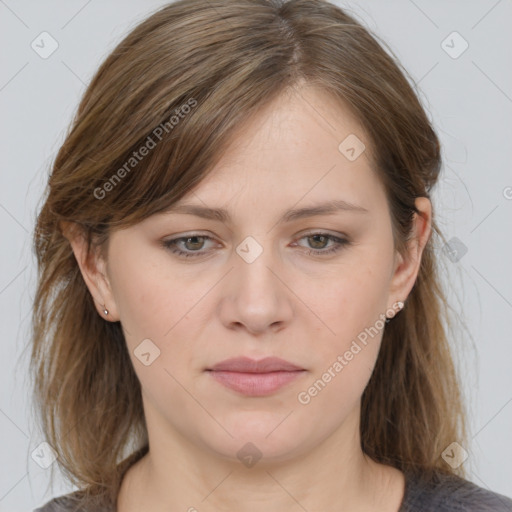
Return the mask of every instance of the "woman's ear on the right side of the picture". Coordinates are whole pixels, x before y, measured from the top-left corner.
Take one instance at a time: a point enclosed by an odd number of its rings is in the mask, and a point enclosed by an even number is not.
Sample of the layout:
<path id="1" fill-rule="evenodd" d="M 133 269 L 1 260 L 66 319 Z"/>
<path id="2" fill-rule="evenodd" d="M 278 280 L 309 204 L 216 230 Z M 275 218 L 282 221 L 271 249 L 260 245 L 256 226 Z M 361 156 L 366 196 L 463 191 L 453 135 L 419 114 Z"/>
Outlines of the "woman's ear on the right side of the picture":
<path id="1" fill-rule="evenodd" d="M 426 197 L 418 197 L 415 201 L 420 214 L 414 214 L 412 233 L 408 242 L 406 257 L 397 254 L 396 264 L 391 278 L 390 296 L 393 303 L 405 302 L 411 292 L 418 275 L 423 249 L 432 233 L 432 204 Z M 391 306 L 389 306 L 391 308 Z"/>

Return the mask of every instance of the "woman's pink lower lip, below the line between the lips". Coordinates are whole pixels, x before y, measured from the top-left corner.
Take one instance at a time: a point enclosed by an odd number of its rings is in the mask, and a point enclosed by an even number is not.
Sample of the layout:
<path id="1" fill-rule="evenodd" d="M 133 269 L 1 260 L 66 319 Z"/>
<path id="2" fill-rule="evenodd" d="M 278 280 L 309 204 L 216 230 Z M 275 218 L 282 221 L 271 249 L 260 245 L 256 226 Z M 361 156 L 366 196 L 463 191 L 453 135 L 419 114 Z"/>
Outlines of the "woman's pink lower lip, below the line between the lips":
<path id="1" fill-rule="evenodd" d="M 241 373 L 228 371 L 208 371 L 211 376 L 227 388 L 238 391 L 246 396 L 265 396 L 281 389 L 289 382 L 305 373 L 305 370 L 294 372 Z"/>

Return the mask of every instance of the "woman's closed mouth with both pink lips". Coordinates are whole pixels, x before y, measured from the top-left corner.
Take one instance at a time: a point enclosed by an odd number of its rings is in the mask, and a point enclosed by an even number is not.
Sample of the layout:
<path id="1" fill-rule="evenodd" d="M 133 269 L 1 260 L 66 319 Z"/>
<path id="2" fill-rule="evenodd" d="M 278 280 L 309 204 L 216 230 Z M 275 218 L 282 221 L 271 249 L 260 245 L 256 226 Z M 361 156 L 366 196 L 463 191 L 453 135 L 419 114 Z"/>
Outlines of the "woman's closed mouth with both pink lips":
<path id="1" fill-rule="evenodd" d="M 276 357 L 259 361 L 238 357 L 207 368 L 206 372 L 216 382 L 245 396 L 266 396 L 304 375 L 307 370 Z"/>

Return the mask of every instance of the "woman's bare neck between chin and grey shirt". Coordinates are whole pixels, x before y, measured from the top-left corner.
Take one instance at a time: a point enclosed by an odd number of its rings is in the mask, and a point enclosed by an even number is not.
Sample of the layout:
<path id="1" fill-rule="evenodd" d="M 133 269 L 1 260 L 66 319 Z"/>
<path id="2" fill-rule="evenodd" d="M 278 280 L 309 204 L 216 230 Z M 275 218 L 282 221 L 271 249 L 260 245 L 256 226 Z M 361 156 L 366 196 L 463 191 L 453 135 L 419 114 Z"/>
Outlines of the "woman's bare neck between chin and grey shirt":
<path id="1" fill-rule="evenodd" d="M 402 473 L 361 450 L 359 408 L 320 445 L 287 460 L 262 454 L 252 466 L 192 444 L 175 430 L 170 435 L 163 422 L 148 424 L 150 449 L 123 480 L 119 512 L 396 512 L 402 501 Z"/>

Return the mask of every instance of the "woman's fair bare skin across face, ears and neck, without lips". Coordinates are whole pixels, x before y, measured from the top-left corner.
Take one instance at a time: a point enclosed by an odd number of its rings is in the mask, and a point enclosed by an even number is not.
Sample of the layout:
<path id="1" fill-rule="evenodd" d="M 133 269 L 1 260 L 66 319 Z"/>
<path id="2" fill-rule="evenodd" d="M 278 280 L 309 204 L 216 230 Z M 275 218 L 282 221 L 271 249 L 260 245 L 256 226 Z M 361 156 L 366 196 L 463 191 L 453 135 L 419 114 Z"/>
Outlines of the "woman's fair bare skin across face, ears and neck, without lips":
<path id="1" fill-rule="evenodd" d="M 118 510 L 396 512 L 404 475 L 367 457 L 359 438 L 361 395 L 382 330 L 308 404 L 297 396 L 407 298 L 431 233 L 430 201 L 416 200 L 421 215 L 402 258 L 370 141 L 319 89 L 283 94 L 237 133 L 181 201 L 224 207 L 232 222 L 158 214 L 114 232 L 108 260 L 87 264 L 83 241 L 70 239 L 98 314 L 121 321 L 142 385 L 150 451 L 123 480 Z M 367 148 L 354 161 L 338 150 L 349 134 Z M 340 198 L 368 212 L 276 224 L 287 209 Z M 211 239 L 179 248 L 205 256 L 180 258 L 161 245 L 197 232 Z M 308 254 L 335 243 L 315 232 L 352 244 Z M 263 248 L 252 263 L 236 252 L 247 236 Z M 160 349 L 149 366 L 134 355 L 147 338 Z M 238 394 L 204 371 L 241 355 L 274 355 L 307 371 L 266 397 Z M 252 467 L 236 455 L 249 441 L 262 454 Z"/>

